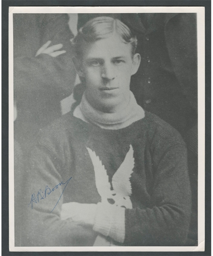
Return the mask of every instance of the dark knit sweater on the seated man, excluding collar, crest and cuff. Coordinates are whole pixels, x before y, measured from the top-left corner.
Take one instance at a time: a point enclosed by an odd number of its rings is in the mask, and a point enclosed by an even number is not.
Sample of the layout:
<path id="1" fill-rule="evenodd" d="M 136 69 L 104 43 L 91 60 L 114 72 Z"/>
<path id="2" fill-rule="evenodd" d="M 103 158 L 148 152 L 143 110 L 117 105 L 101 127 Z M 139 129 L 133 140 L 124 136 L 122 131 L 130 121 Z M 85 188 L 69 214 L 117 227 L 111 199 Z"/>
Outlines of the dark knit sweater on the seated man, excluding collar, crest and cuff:
<path id="1" fill-rule="evenodd" d="M 98 233 L 70 219 L 61 220 L 61 205 L 101 201 L 87 147 L 100 157 L 111 183 L 130 145 L 135 159 L 130 177 L 133 209 L 125 209 L 125 240 L 118 245 L 184 245 L 191 212 L 186 148 L 175 129 L 149 112 L 119 130 L 102 129 L 68 113 L 41 132 L 26 184 L 25 245 L 92 246 Z M 46 185 L 50 188 L 46 192 L 58 186 L 45 198 Z M 33 193 L 39 202 L 31 201 Z"/>

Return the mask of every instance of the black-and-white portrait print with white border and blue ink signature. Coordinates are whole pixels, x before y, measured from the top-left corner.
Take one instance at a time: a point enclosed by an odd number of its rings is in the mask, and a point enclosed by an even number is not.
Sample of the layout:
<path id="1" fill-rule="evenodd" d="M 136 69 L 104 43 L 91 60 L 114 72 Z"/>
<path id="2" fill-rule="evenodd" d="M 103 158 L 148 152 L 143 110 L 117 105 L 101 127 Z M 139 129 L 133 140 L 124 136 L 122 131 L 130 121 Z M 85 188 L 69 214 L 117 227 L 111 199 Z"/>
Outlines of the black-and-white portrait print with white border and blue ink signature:
<path id="1" fill-rule="evenodd" d="M 10 249 L 204 250 L 204 8 L 13 8 Z"/>

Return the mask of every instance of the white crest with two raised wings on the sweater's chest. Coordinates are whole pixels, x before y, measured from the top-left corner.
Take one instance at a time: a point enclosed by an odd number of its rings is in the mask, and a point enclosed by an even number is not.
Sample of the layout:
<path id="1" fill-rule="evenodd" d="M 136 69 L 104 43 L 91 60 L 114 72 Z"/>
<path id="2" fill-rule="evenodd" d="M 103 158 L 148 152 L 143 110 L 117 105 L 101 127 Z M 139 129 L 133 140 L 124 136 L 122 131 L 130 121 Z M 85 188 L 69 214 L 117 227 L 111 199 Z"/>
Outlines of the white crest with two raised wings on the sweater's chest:
<path id="1" fill-rule="evenodd" d="M 101 196 L 101 202 L 108 202 L 108 199 L 113 199 L 116 206 L 132 209 L 132 202 L 130 200 L 130 195 L 132 194 L 130 177 L 135 165 L 132 145 L 130 145 L 130 150 L 127 152 L 123 163 L 121 163 L 121 166 L 112 177 L 113 190 L 110 189 L 111 185 L 109 183 L 107 170 L 100 158 L 95 154 L 95 151 L 92 151 L 92 149 L 86 149 L 89 152 L 89 156 L 94 166 L 95 183 L 98 193 Z"/>

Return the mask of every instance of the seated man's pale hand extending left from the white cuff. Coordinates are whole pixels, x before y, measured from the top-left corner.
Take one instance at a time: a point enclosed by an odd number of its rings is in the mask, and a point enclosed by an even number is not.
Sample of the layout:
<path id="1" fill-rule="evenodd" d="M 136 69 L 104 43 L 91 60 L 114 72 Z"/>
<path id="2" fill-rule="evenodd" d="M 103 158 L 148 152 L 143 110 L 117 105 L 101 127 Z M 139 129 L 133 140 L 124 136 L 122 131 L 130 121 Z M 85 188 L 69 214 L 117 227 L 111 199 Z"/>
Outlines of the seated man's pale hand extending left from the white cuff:
<path id="1" fill-rule="evenodd" d="M 91 225 L 95 223 L 97 204 L 79 204 L 70 202 L 62 204 L 60 218 L 65 220 L 71 218 L 72 221 L 81 225 Z"/>

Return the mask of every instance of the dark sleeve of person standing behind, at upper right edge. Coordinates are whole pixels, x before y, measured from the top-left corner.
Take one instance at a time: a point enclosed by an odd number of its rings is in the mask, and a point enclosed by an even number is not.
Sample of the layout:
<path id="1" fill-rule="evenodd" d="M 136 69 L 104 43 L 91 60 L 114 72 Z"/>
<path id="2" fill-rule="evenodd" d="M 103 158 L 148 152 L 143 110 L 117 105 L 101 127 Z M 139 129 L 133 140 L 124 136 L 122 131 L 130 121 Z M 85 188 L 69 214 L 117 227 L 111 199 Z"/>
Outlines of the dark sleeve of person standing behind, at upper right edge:
<path id="1" fill-rule="evenodd" d="M 168 15 L 169 16 L 169 15 Z M 179 13 L 168 18 L 165 38 L 171 62 L 183 94 L 197 111 L 197 17 Z"/>

